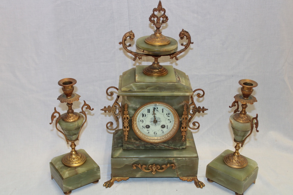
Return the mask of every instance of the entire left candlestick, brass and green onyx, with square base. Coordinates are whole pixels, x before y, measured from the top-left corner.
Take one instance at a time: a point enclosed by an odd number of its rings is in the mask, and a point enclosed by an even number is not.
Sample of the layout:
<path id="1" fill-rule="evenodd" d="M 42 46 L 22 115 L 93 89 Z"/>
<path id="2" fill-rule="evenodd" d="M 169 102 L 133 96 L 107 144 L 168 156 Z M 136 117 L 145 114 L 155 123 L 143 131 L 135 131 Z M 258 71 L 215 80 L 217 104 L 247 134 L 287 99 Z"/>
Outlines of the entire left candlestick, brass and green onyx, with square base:
<path id="1" fill-rule="evenodd" d="M 81 107 L 81 112 L 74 112 L 72 105 L 74 101 L 79 101 L 80 95 L 73 93 L 74 84 L 76 80 L 72 78 L 65 78 L 59 80 L 58 84 L 62 86 L 61 94 L 57 99 L 61 103 L 66 103 L 68 110 L 66 113 L 60 114 L 56 107 L 51 115 L 51 122 L 53 123 L 55 114 L 58 115 L 55 121 L 56 129 L 62 133 L 65 137 L 67 144 L 71 142 L 70 153 L 65 155 L 57 156 L 50 162 L 51 178 L 55 179 L 58 185 L 63 190 L 64 194 L 70 194 L 71 190 L 84 186 L 92 182 L 98 182 L 100 179 L 100 168 L 91 159 L 91 157 L 83 149 L 75 150 L 75 141 L 79 140 L 79 134 L 84 126 L 87 117 L 85 109 L 92 111 L 91 106 L 89 106 L 85 101 L 84 105 Z M 58 125 L 61 127 L 59 130 Z M 88 160 L 87 160 L 88 159 Z M 87 161 L 89 161 L 87 163 Z M 60 165 L 60 162 L 62 164 Z M 72 172 L 72 170 L 76 169 Z M 87 177 L 90 176 L 90 177 Z M 76 183 L 76 180 L 80 180 Z"/>

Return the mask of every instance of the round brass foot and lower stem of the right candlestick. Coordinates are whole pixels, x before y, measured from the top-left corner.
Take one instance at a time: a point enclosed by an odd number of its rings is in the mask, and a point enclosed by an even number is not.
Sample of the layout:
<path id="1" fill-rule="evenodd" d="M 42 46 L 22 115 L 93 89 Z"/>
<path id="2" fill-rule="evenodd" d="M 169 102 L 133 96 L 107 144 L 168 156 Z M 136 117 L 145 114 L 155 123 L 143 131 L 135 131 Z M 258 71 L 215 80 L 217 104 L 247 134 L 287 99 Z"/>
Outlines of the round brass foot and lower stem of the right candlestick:
<path id="1" fill-rule="evenodd" d="M 227 154 L 224 157 L 224 162 L 226 163 L 226 165 L 228 165 L 231 168 L 242 169 L 248 165 L 248 161 L 244 156 L 242 156 L 239 153 L 240 144 L 242 143 L 242 141 L 239 142 L 239 141 L 236 141 L 235 139 L 234 141 L 236 142 L 236 146 L 235 146 L 236 150 L 233 154 Z"/>

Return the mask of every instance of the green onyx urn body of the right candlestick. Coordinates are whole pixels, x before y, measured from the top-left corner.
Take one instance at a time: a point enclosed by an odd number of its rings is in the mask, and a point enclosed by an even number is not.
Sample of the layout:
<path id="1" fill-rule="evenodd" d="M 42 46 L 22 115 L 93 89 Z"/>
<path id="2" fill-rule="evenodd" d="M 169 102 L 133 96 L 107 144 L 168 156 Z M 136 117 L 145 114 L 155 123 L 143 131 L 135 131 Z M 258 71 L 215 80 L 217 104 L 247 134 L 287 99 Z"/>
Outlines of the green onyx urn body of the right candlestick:
<path id="1" fill-rule="evenodd" d="M 230 119 L 230 123 L 231 123 L 231 127 L 232 127 L 232 131 L 233 131 L 235 140 L 241 142 L 244 140 L 244 138 L 250 132 L 251 124 L 250 124 L 250 122 L 243 123 L 243 122 L 236 121 L 233 118 L 233 116 L 235 114 L 236 113 L 232 114 L 229 119 Z M 252 119 L 251 115 L 248 115 L 248 116 Z"/>

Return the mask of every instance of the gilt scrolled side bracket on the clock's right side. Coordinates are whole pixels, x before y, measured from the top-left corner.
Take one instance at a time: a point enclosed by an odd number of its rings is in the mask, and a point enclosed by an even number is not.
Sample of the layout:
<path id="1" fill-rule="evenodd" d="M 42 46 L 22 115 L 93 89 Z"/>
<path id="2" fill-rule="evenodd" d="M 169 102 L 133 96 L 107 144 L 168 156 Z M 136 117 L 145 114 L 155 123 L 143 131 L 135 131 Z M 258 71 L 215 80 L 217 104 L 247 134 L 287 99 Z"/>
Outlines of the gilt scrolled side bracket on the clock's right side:
<path id="1" fill-rule="evenodd" d="M 195 93 L 196 91 L 202 91 L 202 95 L 200 95 L 200 93 L 197 93 L 197 94 L 196 94 L 196 96 L 197 96 L 198 98 L 202 98 L 203 96 L 205 96 L 205 92 L 204 92 L 204 90 L 202 90 L 202 89 L 195 89 L 195 90 L 193 91 L 193 93 Z M 194 121 L 194 122 L 192 123 L 193 126 L 196 126 L 196 124 L 197 124 L 197 127 L 195 127 L 195 128 L 190 127 L 189 123 L 191 122 L 192 118 L 194 117 L 194 115 L 195 115 L 196 113 L 201 113 L 201 112 L 204 113 L 204 112 L 207 111 L 208 109 L 205 108 L 205 107 L 202 107 L 202 108 L 201 108 L 200 106 L 197 107 L 197 106 L 195 105 L 195 103 L 194 103 L 193 95 L 190 96 L 190 99 L 191 99 L 191 103 L 189 104 L 189 115 L 190 115 L 190 118 L 188 119 L 188 127 L 189 127 L 190 129 L 192 129 L 192 130 L 197 130 L 198 128 L 200 128 L 200 124 L 199 124 L 199 122 Z M 192 112 L 190 112 L 190 111 L 192 111 Z"/>

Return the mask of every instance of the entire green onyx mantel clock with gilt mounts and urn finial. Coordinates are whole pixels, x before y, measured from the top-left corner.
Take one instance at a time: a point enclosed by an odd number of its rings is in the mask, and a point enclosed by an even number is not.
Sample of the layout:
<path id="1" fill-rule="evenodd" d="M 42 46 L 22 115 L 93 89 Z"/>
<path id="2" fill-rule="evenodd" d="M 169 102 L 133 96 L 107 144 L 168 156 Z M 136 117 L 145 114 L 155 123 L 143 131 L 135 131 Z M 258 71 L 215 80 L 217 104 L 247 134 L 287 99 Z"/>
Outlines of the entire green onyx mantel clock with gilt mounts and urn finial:
<path id="1" fill-rule="evenodd" d="M 119 43 L 123 48 L 137 58 L 151 56 L 151 65 L 137 65 L 120 75 L 119 86 L 108 87 L 106 94 L 113 96 L 109 89 L 116 89 L 118 95 L 112 106 L 101 109 L 113 113 L 117 126 L 108 122 L 108 130 L 113 134 L 111 155 L 111 179 L 105 182 L 106 188 L 114 181 L 127 180 L 130 177 L 179 177 L 183 181 L 194 181 L 196 187 L 205 186 L 197 179 L 198 156 L 192 130 L 200 125 L 192 121 L 196 113 L 207 111 L 205 107 L 196 106 L 193 94 L 202 98 L 202 89 L 192 90 L 191 84 L 184 72 L 172 65 L 160 65 L 158 59 L 169 56 L 171 59 L 184 52 L 191 42 L 190 34 L 183 30 L 180 39 L 186 38 L 183 49 L 177 51 L 178 42 L 162 34 L 161 25 L 168 21 L 161 1 L 149 17 L 156 27 L 154 34 L 140 37 L 136 48 L 142 53 L 129 50 L 131 44 L 125 44 L 127 38 L 134 39 L 134 33 L 124 34 Z M 117 103 L 122 96 L 122 106 Z M 191 99 L 191 100 L 190 100 Z M 191 103 L 190 103 L 191 101 Z M 122 113 L 123 128 L 118 130 L 118 116 Z M 190 116 L 190 118 L 189 118 Z"/>

